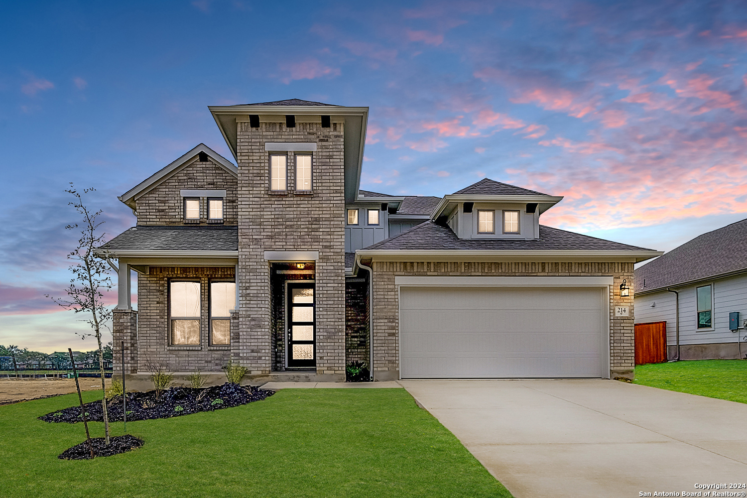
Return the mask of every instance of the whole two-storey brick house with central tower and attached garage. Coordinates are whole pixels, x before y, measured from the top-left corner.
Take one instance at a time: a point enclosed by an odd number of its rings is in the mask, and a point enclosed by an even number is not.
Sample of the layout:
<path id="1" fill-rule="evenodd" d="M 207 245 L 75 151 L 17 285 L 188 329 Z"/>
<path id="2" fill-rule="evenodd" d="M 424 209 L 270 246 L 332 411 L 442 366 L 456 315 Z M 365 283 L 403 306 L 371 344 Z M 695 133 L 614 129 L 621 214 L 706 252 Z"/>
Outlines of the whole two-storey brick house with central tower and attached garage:
<path id="1" fill-rule="evenodd" d="M 211 107 L 200 144 L 120 200 L 115 372 L 185 379 L 632 376 L 633 264 L 660 252 L 539 224 L 562 197 L 483 179 L 436 197 L 359 190 L 368 108 Z M 130 303 L 137 275 L 137 311 Z"/>

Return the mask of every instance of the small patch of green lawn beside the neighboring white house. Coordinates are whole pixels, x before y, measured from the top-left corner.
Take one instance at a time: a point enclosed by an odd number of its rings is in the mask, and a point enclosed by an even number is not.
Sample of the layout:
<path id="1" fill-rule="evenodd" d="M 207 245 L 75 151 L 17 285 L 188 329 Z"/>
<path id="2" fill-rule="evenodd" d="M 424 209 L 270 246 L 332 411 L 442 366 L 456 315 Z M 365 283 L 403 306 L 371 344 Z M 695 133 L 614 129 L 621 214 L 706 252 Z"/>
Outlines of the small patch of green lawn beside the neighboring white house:
<path id="1" fill-rule="evenodd" d="M 635 383 L 747 403 L 747 361 L 697 360 L 639 365 Z"/>

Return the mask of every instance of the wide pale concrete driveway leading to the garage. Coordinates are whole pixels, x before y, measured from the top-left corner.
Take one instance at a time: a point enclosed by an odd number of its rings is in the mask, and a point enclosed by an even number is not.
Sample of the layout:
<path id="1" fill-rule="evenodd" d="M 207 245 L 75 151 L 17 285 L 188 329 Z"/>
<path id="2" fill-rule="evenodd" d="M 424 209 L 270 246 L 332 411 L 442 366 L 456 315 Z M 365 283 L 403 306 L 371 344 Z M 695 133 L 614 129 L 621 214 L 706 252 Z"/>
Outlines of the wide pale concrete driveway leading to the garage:
<path id="1" fill-rule="evenodd" d="M 400 384 L 516 498 L 747 482 L 742 403 L 597 379 Z"/>

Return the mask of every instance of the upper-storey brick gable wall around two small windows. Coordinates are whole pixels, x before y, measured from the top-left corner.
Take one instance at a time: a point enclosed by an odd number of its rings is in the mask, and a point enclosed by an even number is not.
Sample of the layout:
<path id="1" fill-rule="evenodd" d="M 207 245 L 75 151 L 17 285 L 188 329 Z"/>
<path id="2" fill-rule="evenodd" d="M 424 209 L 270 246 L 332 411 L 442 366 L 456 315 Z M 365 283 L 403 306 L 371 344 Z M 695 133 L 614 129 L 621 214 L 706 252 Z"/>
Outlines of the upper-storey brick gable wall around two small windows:
<path id="1" fill-rule="evenodd" d="M 183 167 L 175 175 L 168 178 L 135 201 L 138 225 L 183 225 L 184 202 L 179 190 L 208 189 L 226 190 L 223 201 L 223 224 L 236 225 L 237 211 L 237 179 L 212 161 L 201 163 L 194 161 Z M 208 220 L 207 200 L 200 199 L 200 225 Z M 192 224 L 192 223 L 190 223 Z"/>

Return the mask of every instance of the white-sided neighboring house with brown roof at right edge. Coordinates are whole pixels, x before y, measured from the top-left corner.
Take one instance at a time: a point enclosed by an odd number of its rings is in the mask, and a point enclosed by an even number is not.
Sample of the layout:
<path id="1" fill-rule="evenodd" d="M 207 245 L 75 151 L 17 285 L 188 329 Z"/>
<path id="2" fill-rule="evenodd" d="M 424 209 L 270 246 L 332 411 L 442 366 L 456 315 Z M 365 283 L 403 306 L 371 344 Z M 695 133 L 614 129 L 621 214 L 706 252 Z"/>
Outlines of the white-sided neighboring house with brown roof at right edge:
<path id="1" fill-rule="evenodd" d="M 683 360 L 745 358 L 747 220 L 672 249 L 638 268 L 635 281 L 636 323 L 666 321 L 669 359 L 678 358 L 678 336 Z"/>

